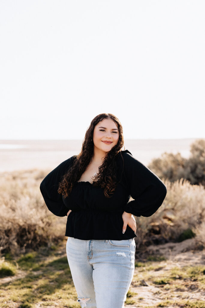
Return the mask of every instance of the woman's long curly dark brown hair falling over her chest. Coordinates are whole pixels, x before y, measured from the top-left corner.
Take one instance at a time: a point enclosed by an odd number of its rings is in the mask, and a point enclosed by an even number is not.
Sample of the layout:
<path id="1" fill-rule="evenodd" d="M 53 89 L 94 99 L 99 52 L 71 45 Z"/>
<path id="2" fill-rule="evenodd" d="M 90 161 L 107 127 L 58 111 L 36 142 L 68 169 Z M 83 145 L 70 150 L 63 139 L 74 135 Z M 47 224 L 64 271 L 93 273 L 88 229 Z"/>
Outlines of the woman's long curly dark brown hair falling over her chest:
<path id="1" fill-rule="evenodd" d="M 119 130 L 119 138 L 117 144 L 106 153 L 103 164 L 99 167 L 99 173 L 93 180 L 93 186 L 104 188 L 104 195 L 107 198 L 112 197 L 117 185 L 116 176 L 116 157 L 124 146 L 123 129 L 118 118 L 111 113 L 101 113 L 97 115 L 90 123 L 89 128 L 85 133 L 81 152 L 73 157 L 73 164 L 68 172 L 64 174 L 59 183 L 58 193 L 64 197 L 68 197 L 71 193 L 73 185 L 81 178 L 87 166 L 92 160 L 94 154 L 93 131 L 95 126 L 104 119 L 112 119 Z M 120 155 L 122 156 L 121 152 Z"/>

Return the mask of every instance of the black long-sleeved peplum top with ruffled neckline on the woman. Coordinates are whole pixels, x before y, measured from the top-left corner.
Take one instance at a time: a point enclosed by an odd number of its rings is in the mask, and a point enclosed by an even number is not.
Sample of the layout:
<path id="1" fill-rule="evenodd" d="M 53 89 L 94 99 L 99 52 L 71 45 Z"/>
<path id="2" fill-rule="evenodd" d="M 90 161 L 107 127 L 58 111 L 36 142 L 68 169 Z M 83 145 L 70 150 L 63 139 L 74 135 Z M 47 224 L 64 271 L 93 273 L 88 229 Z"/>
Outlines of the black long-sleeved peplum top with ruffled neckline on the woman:
<path id="1" fill-rule="evenodd" d="M 62 176 L 73 163 L 73 157 L 63 161 L 41 182 L 40 190 L 48 209 L 56 216 L 67 218 L 65 236 L 81 240 L 124 240 L 136 237 L 127 225 L 122 233 L 123 212 L 149 217 L 162 205 L 167 194 L 164 183 L 128 151 L 116 157 L 119 183 L 112 197 L 90 182 L 76 182 L 68 197 L 57 192 Z M 123 162 L 124 160 L 124 162 Z M 130 196 L 134 199 L 129 201 Z M 137 232 L 136 232 L 137 233 Z"/>

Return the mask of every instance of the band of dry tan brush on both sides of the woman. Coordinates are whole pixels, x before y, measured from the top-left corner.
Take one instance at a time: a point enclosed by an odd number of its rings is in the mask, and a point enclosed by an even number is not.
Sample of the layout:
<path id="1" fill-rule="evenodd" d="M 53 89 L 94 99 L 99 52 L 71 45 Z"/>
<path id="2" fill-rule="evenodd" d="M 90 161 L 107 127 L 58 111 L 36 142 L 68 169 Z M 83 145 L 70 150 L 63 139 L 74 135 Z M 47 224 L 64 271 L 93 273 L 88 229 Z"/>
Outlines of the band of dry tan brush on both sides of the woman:
<path id="1" fill-rule="evenodd" d="M 39 189 L 48 173 L 37 169 L 2 173 L 0 251 L 22 253 L 26 248 L 51 246 L 64 238 L 67 217 L 49 212 Z M 167 187 L 163 205 L 151 217 L 136 217 L 136 248 L 178 241 L 184 232 L 185 238 L 195 233 L 196 244 L 205 247 L 204 187 L 183 179 L 163 182 Z"/>

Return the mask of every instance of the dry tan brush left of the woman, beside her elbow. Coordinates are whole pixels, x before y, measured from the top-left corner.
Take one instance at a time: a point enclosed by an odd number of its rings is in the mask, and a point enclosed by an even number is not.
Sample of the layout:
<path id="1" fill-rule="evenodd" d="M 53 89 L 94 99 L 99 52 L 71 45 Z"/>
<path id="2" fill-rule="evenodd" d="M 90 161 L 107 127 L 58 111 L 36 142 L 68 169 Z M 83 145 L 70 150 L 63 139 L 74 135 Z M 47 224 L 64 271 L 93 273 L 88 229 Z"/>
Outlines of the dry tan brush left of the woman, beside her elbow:
<path id="1" fill-rule="evenodd" d="M 48 172 L 6 172 L 0 180 L 0 252 L 24 253 L 53 245 L 65 235 L 65 218 L 47 209 L 40 182 Z"/>

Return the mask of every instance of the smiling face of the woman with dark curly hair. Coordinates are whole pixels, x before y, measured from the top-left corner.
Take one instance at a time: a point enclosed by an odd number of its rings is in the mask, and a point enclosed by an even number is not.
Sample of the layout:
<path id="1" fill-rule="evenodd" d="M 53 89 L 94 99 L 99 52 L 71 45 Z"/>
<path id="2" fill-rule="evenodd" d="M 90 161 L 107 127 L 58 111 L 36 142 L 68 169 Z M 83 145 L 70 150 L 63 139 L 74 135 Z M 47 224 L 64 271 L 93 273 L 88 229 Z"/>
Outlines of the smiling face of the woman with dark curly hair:
<path id="1" fill-rule="evenodd" d="M 104 119 L 96 124 L 93 131 L 94 150 L 109 152 L 118 142 L 119 131 L 112 119 Z"/>

